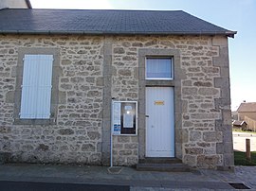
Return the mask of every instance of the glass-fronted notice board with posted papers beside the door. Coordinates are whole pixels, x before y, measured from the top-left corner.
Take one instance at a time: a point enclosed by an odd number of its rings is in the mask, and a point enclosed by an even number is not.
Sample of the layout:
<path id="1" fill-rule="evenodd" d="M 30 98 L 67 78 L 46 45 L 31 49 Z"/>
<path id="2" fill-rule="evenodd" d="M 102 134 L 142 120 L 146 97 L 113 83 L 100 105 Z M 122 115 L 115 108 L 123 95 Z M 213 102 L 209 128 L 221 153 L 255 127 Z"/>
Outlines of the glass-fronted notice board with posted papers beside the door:
<path id="1" fill-rule="evenodd" d="M 112 102 L 112 133 L 137 134 L 137 101 Z"/>

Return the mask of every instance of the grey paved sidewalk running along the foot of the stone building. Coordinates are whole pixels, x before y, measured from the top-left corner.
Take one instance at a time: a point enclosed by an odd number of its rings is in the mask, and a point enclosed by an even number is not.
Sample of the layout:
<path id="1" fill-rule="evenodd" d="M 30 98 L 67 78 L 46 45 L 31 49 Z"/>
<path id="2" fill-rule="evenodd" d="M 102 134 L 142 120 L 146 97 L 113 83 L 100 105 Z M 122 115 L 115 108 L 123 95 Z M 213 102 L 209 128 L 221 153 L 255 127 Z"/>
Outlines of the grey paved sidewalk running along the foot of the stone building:
<path id="1" fill-rule="evenodd" d="M 235 172 L 143 172 L 131 167 L 79 165 L 0 165 L 0 181 L 64 182 L 129 185 L 130 190 L 231 190 L 230 182 L 256 190 L 256 166 L 236 166 Z"/>

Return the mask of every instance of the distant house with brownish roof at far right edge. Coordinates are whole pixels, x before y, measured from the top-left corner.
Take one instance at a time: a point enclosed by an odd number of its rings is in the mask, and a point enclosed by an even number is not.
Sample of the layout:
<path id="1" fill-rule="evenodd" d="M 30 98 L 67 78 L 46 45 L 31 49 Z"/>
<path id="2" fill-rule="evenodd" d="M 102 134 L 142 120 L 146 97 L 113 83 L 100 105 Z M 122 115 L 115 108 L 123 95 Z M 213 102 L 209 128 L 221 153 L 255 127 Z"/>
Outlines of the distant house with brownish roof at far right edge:
<path id="1" fill-rule="evenodd" d="M 241 103 L 237 113 L 239 121 L 247 122 L 247 130 L 256 130 L 256 102 Z"/>

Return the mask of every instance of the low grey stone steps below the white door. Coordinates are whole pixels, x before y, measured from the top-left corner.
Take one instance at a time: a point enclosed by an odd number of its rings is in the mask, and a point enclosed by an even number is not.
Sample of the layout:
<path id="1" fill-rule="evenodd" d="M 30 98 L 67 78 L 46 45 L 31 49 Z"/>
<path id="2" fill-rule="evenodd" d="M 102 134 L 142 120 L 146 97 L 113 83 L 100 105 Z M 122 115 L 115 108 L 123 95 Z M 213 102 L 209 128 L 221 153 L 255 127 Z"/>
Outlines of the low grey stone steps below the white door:
<path id="1" fill-rule="evenodd" d="M 137 164 L 138 171 L 190 172 L 190 167 L 184 164 Z"/>

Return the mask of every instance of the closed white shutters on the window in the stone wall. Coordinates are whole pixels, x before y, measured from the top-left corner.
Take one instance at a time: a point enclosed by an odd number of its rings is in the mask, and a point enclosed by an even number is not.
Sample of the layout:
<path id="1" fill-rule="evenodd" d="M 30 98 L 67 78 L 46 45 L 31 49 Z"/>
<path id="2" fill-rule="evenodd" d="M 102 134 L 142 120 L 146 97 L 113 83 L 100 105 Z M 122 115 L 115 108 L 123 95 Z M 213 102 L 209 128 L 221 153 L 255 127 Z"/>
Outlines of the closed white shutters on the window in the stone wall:
<path id="1" fill-rule="evenodd" d="M 53 55 L 25 55 L 20 118 L 50 117 Z"/>

